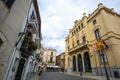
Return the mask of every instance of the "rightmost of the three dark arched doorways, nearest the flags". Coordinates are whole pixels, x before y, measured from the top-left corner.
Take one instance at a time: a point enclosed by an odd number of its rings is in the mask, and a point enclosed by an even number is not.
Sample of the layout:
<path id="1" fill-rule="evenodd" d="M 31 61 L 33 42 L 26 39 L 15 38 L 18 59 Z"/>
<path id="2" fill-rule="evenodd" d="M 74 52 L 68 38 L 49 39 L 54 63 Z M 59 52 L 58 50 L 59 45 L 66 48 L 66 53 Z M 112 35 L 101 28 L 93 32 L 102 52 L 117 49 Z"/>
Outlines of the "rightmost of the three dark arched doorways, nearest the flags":
<path id="1" fill-rule="evenodd" d="M 85 72 L 91 72 L 90 56 L 88 52 L 84 53 Z"/>

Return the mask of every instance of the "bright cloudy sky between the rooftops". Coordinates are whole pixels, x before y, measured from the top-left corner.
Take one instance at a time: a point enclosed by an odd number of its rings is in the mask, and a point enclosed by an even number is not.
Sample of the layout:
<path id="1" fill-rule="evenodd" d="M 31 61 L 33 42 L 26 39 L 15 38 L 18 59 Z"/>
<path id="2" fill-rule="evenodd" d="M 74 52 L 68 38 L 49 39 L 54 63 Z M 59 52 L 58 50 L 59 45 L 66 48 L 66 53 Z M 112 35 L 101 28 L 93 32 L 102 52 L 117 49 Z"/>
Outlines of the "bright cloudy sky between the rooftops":
<path id="1" fill-rule="evenodd" d="M 120 0 L 38 0 L 44 46 L 55 48 L 57 55 L 64 52 L 65 37 L 74 21 L 84 12 L 91 14 L 99 3 L 120 14 Z"/>

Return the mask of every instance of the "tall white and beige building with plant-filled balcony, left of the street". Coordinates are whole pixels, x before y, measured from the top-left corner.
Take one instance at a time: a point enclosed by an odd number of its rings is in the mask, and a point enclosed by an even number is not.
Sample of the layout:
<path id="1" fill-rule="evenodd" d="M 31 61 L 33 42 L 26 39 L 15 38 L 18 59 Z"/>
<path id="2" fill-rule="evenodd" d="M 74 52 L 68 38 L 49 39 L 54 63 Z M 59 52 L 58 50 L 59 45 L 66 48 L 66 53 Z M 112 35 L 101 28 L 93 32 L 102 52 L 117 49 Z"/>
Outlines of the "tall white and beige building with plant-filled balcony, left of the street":
<path id="1" fill-rule="evenodd" d="M 0 80 L 26 80 L 35 71 L 39 52 L 23 46 L 29 33 L 40 45 L 40 25 L 37 0 L 0 0 Z"/>

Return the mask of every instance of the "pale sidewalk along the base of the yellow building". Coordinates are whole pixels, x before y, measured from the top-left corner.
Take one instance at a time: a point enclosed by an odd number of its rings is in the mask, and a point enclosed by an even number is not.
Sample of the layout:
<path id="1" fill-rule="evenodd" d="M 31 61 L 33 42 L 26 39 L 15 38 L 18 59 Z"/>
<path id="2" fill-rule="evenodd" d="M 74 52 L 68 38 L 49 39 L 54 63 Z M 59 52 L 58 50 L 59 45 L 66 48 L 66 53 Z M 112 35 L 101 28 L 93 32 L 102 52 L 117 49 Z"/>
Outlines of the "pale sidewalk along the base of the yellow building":
<path id="1" fill-rule="evenodd" d="M 68 74 L 68 75 L 75 75 L 75 76 L 80 76 L 79 73 L 65 73 L 65 74 Z M 83 77 L 83 78 L 91 78 L 93 80 L 107 80 L 105 76 L 92 76 L 92 75 L 82 75 L 80 77 Z M 120 80 L 120 78 L 113 78 L 113 77 L 110 77 L 110 80 Z"/>

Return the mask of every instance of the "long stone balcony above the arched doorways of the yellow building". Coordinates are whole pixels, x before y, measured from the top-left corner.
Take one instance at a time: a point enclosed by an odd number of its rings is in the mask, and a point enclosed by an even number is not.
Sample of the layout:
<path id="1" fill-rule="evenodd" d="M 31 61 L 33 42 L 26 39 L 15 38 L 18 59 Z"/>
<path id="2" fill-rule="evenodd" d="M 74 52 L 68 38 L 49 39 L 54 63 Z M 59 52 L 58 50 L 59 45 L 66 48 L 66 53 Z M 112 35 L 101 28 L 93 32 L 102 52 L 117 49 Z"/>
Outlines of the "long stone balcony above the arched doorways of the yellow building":
<path id="1" fill-rule="evenodd" d="M 73 52 L 75 52 L 75 51 L 83 50 L 83 49 L 86 49 L 86 48 L 88 48 L 88 43 L 87 43 L 87 42 L 82 42 L 82 43 L 80 43 L 79 45 L 77 45 L 77 46 L 69 49 L 69 50 L 68 50 L 68 53 L 73 53 Z"/>

